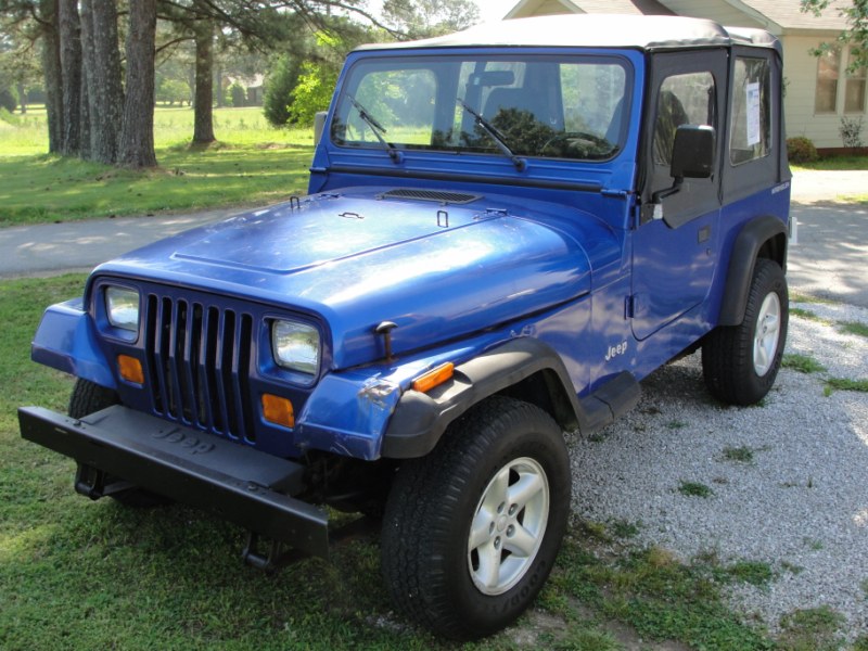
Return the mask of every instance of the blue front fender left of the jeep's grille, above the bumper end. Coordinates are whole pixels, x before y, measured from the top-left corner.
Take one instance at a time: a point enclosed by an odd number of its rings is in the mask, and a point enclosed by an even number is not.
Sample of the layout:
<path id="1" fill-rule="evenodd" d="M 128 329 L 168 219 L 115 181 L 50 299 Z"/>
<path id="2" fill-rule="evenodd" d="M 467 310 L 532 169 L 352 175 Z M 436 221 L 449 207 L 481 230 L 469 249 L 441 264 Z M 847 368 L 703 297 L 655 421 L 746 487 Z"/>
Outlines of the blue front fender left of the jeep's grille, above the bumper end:
<path id="1" fill-rule="evenodd" d="M 117 388 L 81 298 L 46 310 L 30 346 L 30 359 L 106 388 Z"/>

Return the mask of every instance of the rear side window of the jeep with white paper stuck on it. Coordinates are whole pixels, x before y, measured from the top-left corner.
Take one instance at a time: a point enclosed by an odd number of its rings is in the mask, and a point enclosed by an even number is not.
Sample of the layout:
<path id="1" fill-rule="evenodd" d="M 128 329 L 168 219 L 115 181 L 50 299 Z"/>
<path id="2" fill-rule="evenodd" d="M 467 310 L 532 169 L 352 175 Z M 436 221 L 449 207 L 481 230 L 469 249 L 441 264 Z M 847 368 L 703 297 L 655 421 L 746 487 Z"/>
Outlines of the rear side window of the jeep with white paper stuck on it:
<path id="1" fill-rule="evenodd" d="M 729 161 L 732 165 L 767 156 L 771 149 L 769 84 L 768 62 L 765 59 L 736 59 L 729 139 Z"/>

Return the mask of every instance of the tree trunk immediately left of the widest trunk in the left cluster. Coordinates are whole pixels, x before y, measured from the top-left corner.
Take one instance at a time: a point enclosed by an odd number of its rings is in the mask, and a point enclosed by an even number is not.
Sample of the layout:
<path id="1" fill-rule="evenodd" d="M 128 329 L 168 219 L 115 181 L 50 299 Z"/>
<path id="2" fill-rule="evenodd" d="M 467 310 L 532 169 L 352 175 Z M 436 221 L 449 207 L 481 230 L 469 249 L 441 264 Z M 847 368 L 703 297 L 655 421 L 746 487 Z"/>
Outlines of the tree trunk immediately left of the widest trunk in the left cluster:
<path id="1" fill-rule="evenodd" d="M 124 117 L 114 1 L 81 0 L 81 34 L 88 78 L 91 158 L 112 165 L 117 161 Z"/>

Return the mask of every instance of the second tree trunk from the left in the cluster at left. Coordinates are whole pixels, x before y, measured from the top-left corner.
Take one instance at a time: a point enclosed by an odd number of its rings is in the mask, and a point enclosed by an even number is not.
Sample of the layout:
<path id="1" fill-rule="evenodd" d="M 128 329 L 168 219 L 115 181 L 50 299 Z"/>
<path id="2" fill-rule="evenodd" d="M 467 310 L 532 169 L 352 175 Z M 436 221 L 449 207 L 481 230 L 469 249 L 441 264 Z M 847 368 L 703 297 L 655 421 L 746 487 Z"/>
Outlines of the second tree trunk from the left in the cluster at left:
<path id="1" fill-rule="evenodd" d="M 61 153 L 81 152 L 81 27 L 76 0 L 58 0 L 63 87 L 63 140 Z"/>

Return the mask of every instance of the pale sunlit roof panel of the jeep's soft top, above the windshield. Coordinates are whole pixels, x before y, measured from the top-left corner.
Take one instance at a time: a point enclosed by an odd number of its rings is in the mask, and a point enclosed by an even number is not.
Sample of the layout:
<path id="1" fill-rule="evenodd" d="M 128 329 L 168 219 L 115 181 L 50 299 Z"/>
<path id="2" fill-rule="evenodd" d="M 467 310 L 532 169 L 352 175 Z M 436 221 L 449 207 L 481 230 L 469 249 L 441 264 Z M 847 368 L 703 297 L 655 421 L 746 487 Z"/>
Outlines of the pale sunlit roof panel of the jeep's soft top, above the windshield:
<path id="1" fill-rule="evenodd" d="M 679 50 L 749 44 L 774 48 L 780 42 L 768 31 L 723 27 L 713 21 L 682 16 L 570 14 L 484 23 L 447 36 L 399 43 L 373 43 L 360 50 L 473 48 L 473 47 L 583 47 Z"/>

